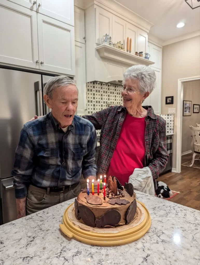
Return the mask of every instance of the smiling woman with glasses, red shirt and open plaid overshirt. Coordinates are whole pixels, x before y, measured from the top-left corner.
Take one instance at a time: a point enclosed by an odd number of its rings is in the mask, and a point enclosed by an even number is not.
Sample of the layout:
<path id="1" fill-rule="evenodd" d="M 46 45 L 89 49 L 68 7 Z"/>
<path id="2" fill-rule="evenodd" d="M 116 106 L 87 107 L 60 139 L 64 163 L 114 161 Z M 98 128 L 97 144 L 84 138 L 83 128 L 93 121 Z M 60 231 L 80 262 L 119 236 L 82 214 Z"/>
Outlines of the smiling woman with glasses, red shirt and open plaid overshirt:
<path id="1" fill-rule="evenodd" d="M 168 161 L 165 121 L 151 106 L 142 106 L 155 81 L 154 70 L 134 65 L 124 73 L 120 87 L 123 106 L 83 116 L 101 129 L 97 173 L 116 176 L 122 185 L 135 169 L 148 167 L 157 189 L 156 179 Z"/>

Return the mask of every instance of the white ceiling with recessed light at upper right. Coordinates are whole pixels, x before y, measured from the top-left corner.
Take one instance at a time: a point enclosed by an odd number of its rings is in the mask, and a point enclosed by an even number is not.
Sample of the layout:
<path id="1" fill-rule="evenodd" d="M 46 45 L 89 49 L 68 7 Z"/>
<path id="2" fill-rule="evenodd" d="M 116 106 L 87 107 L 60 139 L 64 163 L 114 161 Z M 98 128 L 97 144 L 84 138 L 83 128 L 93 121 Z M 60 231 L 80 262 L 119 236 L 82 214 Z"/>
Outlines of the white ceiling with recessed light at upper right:
<path id="1" fill-rule="evenodd" d="M 200 29 L 200 7 L 192 10 L 185 0 L 115 1 L 153 23 L 149 33 L 163 41 Z M 179 22 L 186 25 L 177 28 Z"/>

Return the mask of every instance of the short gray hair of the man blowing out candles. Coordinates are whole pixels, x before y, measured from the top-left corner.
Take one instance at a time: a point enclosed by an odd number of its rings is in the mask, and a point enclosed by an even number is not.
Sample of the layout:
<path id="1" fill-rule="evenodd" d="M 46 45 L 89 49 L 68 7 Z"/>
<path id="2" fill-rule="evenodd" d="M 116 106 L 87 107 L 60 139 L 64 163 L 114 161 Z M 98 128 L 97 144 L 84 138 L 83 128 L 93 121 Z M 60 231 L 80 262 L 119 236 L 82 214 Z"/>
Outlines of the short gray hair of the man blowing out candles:
<path id="1" fill-rule="evenodd" d="M 53 92 L 61 86 L 69 86 L 76 83 L 68 76 L 56 76 L 51 78 L 44 87 L 44 95 L 47 95 L 50 99 L 53 97 Z M 77 88 L 77 87 L 76 87 Z M 78 89 L 77 89 L 78 90 Z"/>

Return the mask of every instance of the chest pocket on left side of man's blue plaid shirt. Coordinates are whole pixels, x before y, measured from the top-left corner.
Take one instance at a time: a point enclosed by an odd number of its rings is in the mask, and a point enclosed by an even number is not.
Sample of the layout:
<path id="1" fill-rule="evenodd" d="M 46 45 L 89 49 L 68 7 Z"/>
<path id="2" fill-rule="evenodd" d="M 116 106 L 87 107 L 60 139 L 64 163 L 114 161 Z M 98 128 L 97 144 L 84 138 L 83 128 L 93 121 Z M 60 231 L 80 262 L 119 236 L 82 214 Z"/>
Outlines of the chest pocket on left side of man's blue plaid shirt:
<path id="1" fill-rule="evenodd" d="M 57 165 L 57 149 L 35 149 L 37 159 L 40 165 Z"/>

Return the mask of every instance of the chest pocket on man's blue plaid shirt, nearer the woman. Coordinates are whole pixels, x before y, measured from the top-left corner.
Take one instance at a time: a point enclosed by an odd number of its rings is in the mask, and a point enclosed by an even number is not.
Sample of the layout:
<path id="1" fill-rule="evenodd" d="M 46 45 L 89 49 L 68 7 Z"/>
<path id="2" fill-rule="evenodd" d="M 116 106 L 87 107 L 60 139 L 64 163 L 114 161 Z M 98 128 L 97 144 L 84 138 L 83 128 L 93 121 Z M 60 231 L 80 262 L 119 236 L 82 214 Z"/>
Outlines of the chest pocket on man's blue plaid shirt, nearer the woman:
<path id="1" fill-rule="evenodd" d="M 75 174 L 82 167 L 83 156 L 86 152 L 84 148 L 74 148 L 70 149 L 71 156 L 70 156 L 70 163 L 69 163 L 69 173 Z"/>

